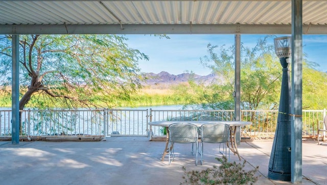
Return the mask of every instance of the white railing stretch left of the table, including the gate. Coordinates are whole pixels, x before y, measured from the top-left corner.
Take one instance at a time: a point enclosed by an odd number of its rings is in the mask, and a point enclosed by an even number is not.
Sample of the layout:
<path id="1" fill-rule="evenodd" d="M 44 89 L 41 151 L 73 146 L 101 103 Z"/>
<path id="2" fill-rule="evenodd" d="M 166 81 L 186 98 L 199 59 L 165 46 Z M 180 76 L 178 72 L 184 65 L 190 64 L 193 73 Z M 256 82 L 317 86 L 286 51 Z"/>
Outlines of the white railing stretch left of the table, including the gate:
<path id="1" fill-rule="evenodd" d="M 147 136 L 148 110 L 21 110 L 20 134 Z M 11 110 L 0 110 L 0 135 L 11 135 Z"/>

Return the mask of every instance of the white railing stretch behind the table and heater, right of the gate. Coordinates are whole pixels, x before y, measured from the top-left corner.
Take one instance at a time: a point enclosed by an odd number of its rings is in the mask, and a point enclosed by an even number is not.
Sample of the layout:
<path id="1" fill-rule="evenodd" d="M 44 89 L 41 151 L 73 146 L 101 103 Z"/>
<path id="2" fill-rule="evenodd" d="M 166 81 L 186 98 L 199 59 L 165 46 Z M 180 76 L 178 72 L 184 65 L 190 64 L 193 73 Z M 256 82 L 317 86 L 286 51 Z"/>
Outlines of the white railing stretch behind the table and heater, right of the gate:
<path id="1" fill-rule="evenodd" d="M 323 120 L 326 110 L 302 111 L 302 135 L 316 136 L 319 120 Z M 190 117 L 193 120 L 233 120 L 234 110 L 152 110 L 150 121 L 170 120 L 173 117 Z M 241 120 L 252 125 L 242 128 L 244 136 L 274 136 L 277 125 L 277 110 L 241 110 Z M 209 118 L 209 119 L 207 119 Z M 320 126 L 322 127 L 322 125 Z M 152 127 L 154 135 L 163 135 L 163 129 Z"/>

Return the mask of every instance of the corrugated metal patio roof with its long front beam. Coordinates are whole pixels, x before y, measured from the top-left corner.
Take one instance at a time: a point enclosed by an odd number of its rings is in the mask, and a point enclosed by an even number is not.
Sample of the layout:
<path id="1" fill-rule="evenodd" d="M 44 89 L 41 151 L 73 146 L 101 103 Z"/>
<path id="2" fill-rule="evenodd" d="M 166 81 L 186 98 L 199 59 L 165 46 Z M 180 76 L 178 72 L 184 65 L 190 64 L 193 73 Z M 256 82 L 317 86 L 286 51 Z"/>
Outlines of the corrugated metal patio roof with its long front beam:
<path id="1" fill-rule="evenodd" d="M 291 33 L 291 1 L 3 1 L 0 34 Z M 327 34 L 327 1 L 303 1 L 303 33 Z"/>

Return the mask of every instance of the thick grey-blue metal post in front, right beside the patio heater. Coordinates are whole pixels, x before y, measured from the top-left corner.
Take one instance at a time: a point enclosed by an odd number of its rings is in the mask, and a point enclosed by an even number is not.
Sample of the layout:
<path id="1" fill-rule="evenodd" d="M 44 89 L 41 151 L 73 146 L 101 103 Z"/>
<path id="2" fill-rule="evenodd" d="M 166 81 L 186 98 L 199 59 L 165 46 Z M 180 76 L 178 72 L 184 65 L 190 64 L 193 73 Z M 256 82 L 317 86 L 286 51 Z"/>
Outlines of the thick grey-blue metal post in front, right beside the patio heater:
<path id="1" fill-rule="evenodd" d="M 292 0 L 291 181 L 302 181 L 302 0 Z"/>

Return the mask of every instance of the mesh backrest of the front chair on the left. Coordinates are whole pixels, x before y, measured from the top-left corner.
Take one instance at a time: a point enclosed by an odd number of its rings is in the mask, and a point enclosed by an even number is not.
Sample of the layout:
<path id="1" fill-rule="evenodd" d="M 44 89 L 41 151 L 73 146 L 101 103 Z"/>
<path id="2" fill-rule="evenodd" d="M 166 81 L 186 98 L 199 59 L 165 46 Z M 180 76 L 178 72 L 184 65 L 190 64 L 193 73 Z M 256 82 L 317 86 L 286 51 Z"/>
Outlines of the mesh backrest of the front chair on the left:
<path id="1" fill-rule="evenodd" d="M 169 126 L 169 140 L 177 143 L 197 142 L 198 127 L 188 123 L 171 124 Z"/>

